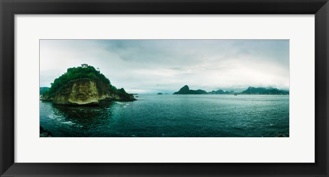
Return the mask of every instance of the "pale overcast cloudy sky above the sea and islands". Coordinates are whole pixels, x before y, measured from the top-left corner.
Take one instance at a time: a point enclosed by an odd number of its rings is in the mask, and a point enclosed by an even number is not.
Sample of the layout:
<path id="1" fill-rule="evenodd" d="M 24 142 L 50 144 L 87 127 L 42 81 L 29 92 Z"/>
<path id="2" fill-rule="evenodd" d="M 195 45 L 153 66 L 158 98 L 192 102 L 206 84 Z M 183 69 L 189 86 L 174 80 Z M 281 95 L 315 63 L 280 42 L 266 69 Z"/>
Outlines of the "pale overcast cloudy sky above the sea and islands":
<path id="1" fill-rule="evenodd" d="M 289 89 L 289 40 L 40 40 L 40 86 L 83 63 L 130 93 Z"/>

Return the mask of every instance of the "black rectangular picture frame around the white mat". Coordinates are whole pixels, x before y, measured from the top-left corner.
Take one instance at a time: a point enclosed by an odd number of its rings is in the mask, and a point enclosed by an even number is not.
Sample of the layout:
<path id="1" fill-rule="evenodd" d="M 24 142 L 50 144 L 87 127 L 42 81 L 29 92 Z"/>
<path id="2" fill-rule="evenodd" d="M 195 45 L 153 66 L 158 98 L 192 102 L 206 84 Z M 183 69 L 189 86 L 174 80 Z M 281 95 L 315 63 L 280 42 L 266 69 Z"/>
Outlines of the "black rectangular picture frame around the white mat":
<path id="1" fill-rule="evenodd" d="M 0 12 L 0 176 L 328 176 L 328 0 L 0 0 Z M 315 163 L 14 163 L 15 14 L 315 14 Z"/>

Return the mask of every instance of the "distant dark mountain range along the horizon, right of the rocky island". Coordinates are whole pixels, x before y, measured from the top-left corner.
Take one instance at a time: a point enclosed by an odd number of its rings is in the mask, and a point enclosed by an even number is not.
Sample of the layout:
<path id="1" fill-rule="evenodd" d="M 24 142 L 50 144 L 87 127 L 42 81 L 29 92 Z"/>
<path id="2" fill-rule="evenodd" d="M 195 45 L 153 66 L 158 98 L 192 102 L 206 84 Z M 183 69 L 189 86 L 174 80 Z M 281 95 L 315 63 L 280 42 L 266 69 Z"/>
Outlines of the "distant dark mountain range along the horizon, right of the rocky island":
<path id="1" fill-rule="evenodd" d="M 187 85 L 180 88 L 180 91 L 173 93 L 173 95 L 200 95 L 200 94 L 217 94 L 217 95 L 289 95 L 289 91 L 280 90 L 278 88 L 264 88 L 264 87 L 252 87 L 249 86 L 247 90 L 240 93 L 235 93 L 234 91 L 223 91 L 219 89 L 218 91 L 206 92 L 204 90 L 190 90 Z"/>

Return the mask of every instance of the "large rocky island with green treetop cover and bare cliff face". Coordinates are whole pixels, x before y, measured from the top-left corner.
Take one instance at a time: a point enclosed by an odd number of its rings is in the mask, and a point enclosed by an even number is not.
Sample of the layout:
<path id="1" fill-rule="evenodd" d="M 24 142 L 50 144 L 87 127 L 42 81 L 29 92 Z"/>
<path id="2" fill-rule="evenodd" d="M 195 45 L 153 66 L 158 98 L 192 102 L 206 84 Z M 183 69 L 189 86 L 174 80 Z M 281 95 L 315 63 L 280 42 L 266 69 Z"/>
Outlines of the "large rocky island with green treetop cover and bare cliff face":
<path id="1" fill-rule="evenodd" d="M 110 80 L 88 64 L 67 69 L 51 87 L 40 87 L 40 99 L 62 105 L 98 105 L 101 101 L 134 101 L 124 88 L 112 86 Z"/>

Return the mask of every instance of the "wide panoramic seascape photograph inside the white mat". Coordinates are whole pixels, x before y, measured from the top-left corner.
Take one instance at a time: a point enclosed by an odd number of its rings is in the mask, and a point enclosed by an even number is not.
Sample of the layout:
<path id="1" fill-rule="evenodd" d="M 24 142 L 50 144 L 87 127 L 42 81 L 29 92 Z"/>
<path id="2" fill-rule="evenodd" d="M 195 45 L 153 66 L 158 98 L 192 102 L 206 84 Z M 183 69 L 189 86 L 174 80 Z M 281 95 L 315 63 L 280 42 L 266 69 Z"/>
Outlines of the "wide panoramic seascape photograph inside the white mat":
<path id="1" fill-rule="evenodd" d="M 40 40 L 40 137 L 289 137 L 289 40 Z"/>

